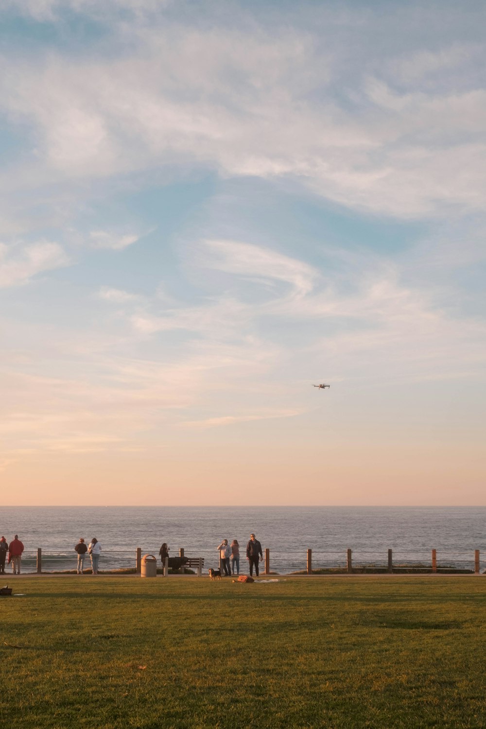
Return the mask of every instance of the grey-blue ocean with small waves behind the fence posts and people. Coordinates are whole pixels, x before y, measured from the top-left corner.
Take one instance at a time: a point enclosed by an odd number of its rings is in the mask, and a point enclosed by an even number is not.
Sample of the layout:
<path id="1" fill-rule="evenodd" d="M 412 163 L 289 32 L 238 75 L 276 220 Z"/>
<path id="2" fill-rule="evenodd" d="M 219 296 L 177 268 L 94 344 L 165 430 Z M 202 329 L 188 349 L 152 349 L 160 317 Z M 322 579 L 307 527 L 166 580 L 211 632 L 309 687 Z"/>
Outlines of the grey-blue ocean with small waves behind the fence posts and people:
<path id="1" fill-rule="evenodd" d="M 100 542 L 101 571 L 135 566 L 136 547 L 158 558 L 162 542 L 171 555 L 184 547 L 204 557 L 207 569 L 223 538 L 244 553 L 251 532 L 280 573 L 305 569 L 308 548 L 314 569 L 344 566 L 348 548 L 356 566 L 385 566 L 388 549 L 396 564 L 430 564 L 434 548 L 438 564 L 467 567 L 479 549 L 484 569 L 485 523 L 486 507 L 3 507 L 0 535 L 19 535 L 24 572 L 36 571 L 38 547 L 43 572 L 74 569 L 79 537 Z"/>

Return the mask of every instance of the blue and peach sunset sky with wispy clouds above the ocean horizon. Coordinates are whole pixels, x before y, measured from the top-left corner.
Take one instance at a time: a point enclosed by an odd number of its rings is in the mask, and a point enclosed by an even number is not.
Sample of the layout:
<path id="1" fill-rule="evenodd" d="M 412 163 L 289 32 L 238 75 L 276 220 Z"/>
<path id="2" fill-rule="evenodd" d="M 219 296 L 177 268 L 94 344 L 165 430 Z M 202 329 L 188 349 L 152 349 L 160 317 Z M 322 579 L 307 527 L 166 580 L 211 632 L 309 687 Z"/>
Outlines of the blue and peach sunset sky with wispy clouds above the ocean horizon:
<path id="1" fill-rule="evenodd" d="M 4 504 L 486 504 L 483 2 L 0 21 Z"/>

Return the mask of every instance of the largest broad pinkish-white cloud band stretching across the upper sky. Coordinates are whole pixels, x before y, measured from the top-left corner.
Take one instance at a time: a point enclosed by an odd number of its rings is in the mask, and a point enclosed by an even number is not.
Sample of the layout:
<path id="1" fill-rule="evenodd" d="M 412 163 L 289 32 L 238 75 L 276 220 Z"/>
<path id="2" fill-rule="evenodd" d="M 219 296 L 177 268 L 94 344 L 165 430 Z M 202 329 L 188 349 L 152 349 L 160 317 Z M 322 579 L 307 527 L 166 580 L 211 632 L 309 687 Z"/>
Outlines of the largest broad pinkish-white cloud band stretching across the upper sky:
<path id="1" fill-rule="evenodd" d="M 278 37 L 262 16 L 249 39 L 222 17 L 208 31 L 197 13 L 181 26 L 162 10 L 138 24 L 128 57 L 16 61 L 1 104 L 30 120 L 39 154 L 68 178 L 190 163 L 223 176 L 291 177 L 344 206 L 400 218 L 481 209 L 486 95 L 471 88 L 468 58 L 477 63 L 482 47 L 456 41 L 423 53 L 410 42 L 378 64 L 369 46 L 358 61 L 334 39 L 362 38 L 375 23 L 368 12 L 356 24 L 354 12 L 343 10 L 339 28 L 325 10 L 306 12 Z M 238 14 L 243 27 L 256 22 Z M 451 68 L 452 89 L 443 83 Z M 420 91 L 418 77 L 428 78 Z"/>

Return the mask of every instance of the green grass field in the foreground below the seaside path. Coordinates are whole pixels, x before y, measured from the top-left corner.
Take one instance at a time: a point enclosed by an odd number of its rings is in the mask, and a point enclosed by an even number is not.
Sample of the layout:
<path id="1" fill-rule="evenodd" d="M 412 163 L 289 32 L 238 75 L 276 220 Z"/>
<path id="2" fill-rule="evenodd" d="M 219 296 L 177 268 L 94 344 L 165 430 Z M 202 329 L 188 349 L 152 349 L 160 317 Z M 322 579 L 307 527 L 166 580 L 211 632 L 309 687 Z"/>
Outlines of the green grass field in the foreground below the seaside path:
<path id="1" fill-rule="evenodd" d="M 2 727 L 486 725 L 486 578 L 8 581 Z"/>

